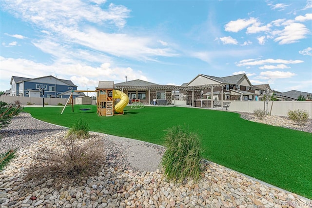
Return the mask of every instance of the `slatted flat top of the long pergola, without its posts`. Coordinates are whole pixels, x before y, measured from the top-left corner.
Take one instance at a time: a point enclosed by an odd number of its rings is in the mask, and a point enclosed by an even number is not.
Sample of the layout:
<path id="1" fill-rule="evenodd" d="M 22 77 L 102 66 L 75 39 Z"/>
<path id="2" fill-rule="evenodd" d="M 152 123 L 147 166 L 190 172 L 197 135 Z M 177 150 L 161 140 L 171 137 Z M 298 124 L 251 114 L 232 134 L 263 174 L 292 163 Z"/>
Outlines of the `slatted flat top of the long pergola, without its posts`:
<path id="1" fill-rule="evenodd" d="M 220 84 L 205 84 L 205 85 L 197 85 L 197 86 L 178 86 L 178 85 L 146 85 L 146 86 L 133 86 L 133 85 L 118 85 L 115 84 L 115 89 L 123 89 L 123 90 L 159 90 L 159 91 L 173 91 L 173 90 L 183 90 L 183 91 L 192 91 L 192 90 L 203 90 L 203 89 L 211 89 L 212 87 L 223 87 L 226 85 L 225 83 Z"/>

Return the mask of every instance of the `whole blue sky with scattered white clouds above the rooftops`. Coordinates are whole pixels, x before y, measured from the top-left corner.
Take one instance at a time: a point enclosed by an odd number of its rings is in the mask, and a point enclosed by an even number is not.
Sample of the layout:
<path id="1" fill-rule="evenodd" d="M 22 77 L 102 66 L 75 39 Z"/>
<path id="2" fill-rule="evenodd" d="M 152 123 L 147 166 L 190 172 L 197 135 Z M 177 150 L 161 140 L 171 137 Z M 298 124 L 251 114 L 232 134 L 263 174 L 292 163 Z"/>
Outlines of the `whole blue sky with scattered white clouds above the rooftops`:
<path id="1" fill-rule="evenodd" d="M 190 82 L 246 73 L 312 92 L 312 0 L 1 0 L 0 91 L 11 76 Z"/>

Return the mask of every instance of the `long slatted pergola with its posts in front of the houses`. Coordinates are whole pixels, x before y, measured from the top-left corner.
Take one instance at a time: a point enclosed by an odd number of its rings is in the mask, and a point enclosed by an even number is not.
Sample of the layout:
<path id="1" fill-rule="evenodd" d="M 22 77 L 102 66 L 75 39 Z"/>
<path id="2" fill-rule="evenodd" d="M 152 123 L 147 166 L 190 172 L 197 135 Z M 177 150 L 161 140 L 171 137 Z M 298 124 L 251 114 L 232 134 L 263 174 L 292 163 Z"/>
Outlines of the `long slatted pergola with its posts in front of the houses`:
<path id="1" fill-rule="evenodd" d="M 148 103 L 151 103 L 150 100 L 150 94 L 151 91 L 192 91 L 192 104 L 194 103 L 194 91 L 204 90 L 204 89 L 210 89 L 211 93 L 214 93 L 214 87 L 221 87 L 221 107 L 223 108 L 223 87 L 225 86 L 225 83 L 218 83 L 218 84 L 204 84 L 204 85 L 195 85 L 195 86 L 177 86 L 177 85 L 146 85 L 146 86 L 133 86 L 133 85 L 115 85 L 115 89 L 123 90 L 137 90 L 137 91 L 148 91 Z M 175 96 L 176 101 L 176 96 Z M 211 96 L 211 106 L 213 107 L 213 96 Z"/>

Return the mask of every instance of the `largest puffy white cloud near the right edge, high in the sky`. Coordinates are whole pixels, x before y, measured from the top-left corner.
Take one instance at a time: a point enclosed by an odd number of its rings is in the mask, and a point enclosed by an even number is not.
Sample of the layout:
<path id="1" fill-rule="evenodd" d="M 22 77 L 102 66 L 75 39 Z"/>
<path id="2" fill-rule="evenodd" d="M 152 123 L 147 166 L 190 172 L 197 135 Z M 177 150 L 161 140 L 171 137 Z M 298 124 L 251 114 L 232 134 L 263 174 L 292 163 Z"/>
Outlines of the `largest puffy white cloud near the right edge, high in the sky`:
<path id="1" fill-rule="evenodd" d="M 285 26 L 283 30 L 273 31 L 272 34 L 278 36 L 274 39 L 274 42 L 282 45 L 305 39 L 306 35 L 310 34 L 310 31 L 304 24 L 292 22 Z"/>

